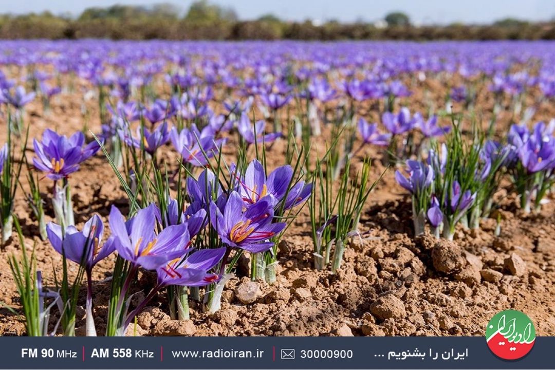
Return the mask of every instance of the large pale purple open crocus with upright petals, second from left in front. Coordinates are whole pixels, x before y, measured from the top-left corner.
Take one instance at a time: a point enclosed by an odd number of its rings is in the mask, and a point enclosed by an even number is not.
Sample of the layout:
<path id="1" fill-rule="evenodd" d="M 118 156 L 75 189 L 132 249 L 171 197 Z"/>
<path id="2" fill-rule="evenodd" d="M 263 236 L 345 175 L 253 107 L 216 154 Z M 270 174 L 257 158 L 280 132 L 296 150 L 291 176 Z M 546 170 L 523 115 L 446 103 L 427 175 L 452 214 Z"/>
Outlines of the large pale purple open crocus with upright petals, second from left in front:
<path id="1" fill-rule="evenodd" d="M 134 266 L 146 270 L 156 270 L 189 249 L 187 225 L 171 225 L 159 234 L 155 232 L 158 212 L 151 204 L 126 222 L 115 206 L 110 210 L 109 223 L 115 250 Z"/>

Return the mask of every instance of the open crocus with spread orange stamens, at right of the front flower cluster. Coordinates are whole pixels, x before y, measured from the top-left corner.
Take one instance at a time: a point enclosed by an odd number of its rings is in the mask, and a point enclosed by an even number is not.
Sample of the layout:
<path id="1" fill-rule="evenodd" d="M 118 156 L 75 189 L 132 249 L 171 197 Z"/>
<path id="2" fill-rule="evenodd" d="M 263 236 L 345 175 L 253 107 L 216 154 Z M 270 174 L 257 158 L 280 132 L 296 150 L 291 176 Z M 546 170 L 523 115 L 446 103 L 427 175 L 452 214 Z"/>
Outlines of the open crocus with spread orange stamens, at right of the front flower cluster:
<path id="1" fill-rule="evenodd" d="M 245 202 L 238 192 L 232 191 L 221 212 L 214 202 L 210 204 L 210 222 L 218 231 L 221 240 L 230 247 L 251 253 L 269 250 L 274 243 L 269 241 L 279 234 L 285 223 L 272 223 L 274 200 L 266 195 L 245 210 Z"/>

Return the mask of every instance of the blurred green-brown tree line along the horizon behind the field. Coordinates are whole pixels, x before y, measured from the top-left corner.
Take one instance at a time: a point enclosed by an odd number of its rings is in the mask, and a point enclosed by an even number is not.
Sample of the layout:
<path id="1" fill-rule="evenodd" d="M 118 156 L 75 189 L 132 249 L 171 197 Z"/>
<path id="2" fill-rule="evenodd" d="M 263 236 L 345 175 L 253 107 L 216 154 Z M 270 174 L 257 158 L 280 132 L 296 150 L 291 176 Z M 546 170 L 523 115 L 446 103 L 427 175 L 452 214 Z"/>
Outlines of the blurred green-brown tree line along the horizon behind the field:
<path id="1" fill-rule="evenodd" d="M 387 14 L 378 23 L 287 22 L 273 14 L 240 20 L 233 8 L 198 0 L 184 16 L 173 4 L 152 7 L 91 7 L 77 18 L 49 12 L 0 15 L 2 39 L 295 39 L 295 40 L 496 40 L 555 39 L 555 22 L 532 23 L 502 19 L 492 24 L 453 23 L 415 26 L 402 12 Z"/>

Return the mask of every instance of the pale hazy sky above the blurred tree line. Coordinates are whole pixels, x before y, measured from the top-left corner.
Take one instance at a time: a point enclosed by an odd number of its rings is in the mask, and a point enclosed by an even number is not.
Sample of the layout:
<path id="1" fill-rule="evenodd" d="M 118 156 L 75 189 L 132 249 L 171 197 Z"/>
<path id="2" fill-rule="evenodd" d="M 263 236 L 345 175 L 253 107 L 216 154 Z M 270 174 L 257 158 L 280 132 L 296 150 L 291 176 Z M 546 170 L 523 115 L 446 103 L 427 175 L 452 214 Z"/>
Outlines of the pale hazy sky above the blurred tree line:
<path id="1" fill-rule="evenodd" d="M 50 11 L 77 16 L 87 7 L 114 4 L 145 5 L 168 2 L 183 12 L 193 0 L 0 0 L 0 13 L 22 14 Z M 317 19 L 341 22 L 377 21 L 392 11 L 408 14 L 415 24 L 491 23 L 512 17 L 527 21 L 555 18 L 555 0 L 211 0 L 233 7 L 240 19 L 254 19 L 273 13 L 288 21 Z"/>

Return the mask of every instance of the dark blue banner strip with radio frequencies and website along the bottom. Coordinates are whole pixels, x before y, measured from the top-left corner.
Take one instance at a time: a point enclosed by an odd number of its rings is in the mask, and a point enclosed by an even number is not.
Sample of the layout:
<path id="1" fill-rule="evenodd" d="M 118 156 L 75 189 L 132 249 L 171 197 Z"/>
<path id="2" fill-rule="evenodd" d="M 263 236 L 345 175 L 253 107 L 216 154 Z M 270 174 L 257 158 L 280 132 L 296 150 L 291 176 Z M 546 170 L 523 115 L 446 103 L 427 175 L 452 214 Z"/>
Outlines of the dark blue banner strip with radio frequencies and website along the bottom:
<path id="1" fill-rule="evenodd" d="M 0 337 L 0 368 L 548 369 L 555 337 L 505 361 L 484 337 Z"/>

